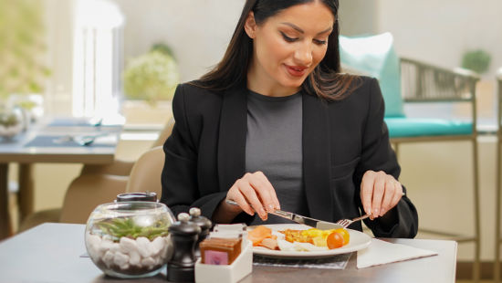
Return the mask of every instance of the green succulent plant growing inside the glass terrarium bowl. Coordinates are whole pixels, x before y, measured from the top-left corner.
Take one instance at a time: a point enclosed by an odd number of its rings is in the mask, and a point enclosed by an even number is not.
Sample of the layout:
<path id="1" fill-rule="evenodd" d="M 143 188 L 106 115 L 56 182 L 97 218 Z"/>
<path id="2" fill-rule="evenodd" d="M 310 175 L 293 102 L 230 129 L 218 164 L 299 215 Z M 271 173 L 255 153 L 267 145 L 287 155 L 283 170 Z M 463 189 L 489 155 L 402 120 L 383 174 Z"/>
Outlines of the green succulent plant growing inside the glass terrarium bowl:
<path id="1" fill-rule="evenodd" d="M 145 236 L 152 241 L 158 236 L 167 236 L 169 234 L 167 230 L 169 225 L 161 220 L 146 227 L 137 225 L 131 217 L 104 220 L 96 223 L 96 225 L 105 234 L 115 237 L 116 241 L 118 241 L 122 236 L 127 236 L 132 239 Z"/>

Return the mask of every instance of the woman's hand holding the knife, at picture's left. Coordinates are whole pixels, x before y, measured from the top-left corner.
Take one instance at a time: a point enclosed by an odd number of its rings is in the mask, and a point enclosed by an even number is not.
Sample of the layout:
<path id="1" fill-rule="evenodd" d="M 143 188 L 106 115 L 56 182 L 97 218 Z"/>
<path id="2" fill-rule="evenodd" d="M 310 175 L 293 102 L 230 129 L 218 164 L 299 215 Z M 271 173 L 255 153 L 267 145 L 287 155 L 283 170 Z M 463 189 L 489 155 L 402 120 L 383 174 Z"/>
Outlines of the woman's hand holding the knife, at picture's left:
<path id="1" fill-rule="evenodd" d="M 226 199 L 239 204 L 236 207 L 224 202 L 225 205 L 233 206 L 228 207 L 228 209 L 240 209 L 248 215 L 255 215 L 255 212 L 257 212 L 264 221 L 267 220 L 267 212 L 280 209 L 276 190 L 268 181 L 267 176 L 261 171 L 246 173 L 242 178 L 235 181 L 234 185 L 228 190 Z"/>

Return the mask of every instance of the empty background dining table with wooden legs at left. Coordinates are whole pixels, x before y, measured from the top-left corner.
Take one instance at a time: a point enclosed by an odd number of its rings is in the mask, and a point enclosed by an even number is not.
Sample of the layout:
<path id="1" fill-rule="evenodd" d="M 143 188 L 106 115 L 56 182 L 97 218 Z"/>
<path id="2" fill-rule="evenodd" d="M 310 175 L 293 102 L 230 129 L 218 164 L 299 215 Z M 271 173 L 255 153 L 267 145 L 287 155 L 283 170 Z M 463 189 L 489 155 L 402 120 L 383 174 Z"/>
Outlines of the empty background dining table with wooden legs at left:
<path id="1" fill-rule="evenodd" d="M 122 126 L 87 118 L 47 117 L 11 139 L 0 138 L 0 240 L 13 234 L 9 164 L 19 164 L 17 206 L 22 220 L 34 211 L 33 164 L 111 163 Z"/>

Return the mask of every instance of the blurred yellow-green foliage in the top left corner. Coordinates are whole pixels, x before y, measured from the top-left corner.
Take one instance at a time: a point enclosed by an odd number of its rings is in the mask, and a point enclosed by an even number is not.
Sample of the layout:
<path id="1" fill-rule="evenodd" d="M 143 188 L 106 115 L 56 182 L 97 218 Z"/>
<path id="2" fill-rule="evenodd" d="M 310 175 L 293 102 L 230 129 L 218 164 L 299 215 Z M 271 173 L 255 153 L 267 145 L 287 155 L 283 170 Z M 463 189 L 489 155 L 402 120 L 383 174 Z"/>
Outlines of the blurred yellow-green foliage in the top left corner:
<path id="1" fill-rule="evenodd" d="M 42 0 L 0 0 L 0 99 L 42 93 L 50 70 Z"/>

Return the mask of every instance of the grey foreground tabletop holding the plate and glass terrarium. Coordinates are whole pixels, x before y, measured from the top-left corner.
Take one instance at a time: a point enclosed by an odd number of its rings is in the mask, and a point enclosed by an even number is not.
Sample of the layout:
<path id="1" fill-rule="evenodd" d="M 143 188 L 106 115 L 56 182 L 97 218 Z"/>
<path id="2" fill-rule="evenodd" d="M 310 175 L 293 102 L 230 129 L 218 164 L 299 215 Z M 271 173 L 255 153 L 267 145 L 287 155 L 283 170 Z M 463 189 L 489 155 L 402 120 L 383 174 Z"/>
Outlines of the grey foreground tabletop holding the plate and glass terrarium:
<path id="1" fill-rule="evenodd" d="M 0 282 L 166 282 L 166 269 L 152 278 L 105 276 L 86 255 L 86 225 L 47 223 L 0 242 Z M 357 252 L 344 269 L 254 266 L 239 282 L 455 282 L 457 243 L 432 239 L 384 239 L 431 250 L 434 257 L 357 268 Z"/>

